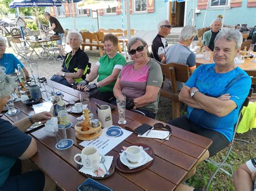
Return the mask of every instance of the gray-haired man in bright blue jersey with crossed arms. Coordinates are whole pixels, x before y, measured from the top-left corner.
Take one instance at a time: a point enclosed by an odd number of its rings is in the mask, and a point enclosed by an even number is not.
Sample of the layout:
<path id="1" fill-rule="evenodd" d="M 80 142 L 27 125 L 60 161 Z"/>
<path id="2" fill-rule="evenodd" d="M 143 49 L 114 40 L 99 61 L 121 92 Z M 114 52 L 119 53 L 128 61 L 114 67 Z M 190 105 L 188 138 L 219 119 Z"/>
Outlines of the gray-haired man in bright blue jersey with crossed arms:
<path id="1" fill-rule="evenodd" d="M 233 138 L 234 124 L 252 83 L 250 76 L 234 64 L 241 44 L 239 31 L 221 30 L 215 38 L 215 63 L 199 66 L 180 91 L 179 100 L 188 105 L 187 115 L 168 123 L 212 140 L 186 179 L 196 173 L 201 161 L 226 147 Z"/>

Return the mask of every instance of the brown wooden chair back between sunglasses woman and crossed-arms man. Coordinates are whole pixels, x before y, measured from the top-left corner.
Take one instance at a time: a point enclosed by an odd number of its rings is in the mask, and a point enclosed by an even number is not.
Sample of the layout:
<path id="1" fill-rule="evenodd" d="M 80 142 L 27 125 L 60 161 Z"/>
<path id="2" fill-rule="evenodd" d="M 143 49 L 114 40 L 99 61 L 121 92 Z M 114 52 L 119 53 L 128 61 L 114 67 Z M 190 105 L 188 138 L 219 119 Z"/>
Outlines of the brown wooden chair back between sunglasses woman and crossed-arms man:
<path id="1" fill-rule="evenodd" d="M 160 96 L 169 98 L 172 101 L 172 118 L 179 117 L 180 101 L 179 91 L 176 82 L 186 82 L 190 78 L 188 65 L 180 63 L 159 63 L 162 73 L 165 75 L 164 86 L 160 90 Z M 167 80 L 170 80 L 172 87 Z"/>

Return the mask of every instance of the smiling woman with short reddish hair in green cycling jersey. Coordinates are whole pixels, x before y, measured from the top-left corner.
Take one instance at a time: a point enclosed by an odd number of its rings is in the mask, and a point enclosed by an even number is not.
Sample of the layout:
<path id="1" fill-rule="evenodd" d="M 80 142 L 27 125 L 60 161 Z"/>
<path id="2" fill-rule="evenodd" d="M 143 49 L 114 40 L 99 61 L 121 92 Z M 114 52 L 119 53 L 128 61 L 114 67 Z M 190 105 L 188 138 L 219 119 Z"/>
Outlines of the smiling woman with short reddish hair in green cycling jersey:
<path id="1" fill-rule="evenodd" d="M 92 91 L 96 89 L 96 93 L 90 97 L 110 103 L 114 99 L 113 87 L 116 83 L 117 76 L 123 68 L 126 60 L 124 56 L 117 52 L 118 38 L 113 34 L 107 34 L 104 39 L 104 51 L 106 55 L 102 56 L 96 66 L 92 69 L 86 80 L 78 83 L 77 89 L 84 91 Z M 97 83 L 90 83 L 97 79 Z M 95 92 L 93 91 L 93 92 Z"/>

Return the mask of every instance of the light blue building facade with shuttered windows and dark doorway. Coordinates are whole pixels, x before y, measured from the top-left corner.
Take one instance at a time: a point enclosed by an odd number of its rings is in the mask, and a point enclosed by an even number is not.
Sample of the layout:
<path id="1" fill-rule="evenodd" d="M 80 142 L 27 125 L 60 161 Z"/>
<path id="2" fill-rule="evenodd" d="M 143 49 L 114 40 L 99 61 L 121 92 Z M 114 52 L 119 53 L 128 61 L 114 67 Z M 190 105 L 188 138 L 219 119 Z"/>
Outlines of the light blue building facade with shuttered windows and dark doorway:
<path id="1" fill-rule="evenodd" d="M 102 29 L 122 29 L 121 1 L 123 1 L 124 26 L 126 29 L 126 0 L 117 0 L 118 6 L 109 9 L 78 9 L 77 3 L 65 3 L 61 7 L 47 8 L 64 29 L 97 31 Z M 169 0 L 170 1 L 170 0 Z M 227 25 L 256 25 L 256 0 L 186 0 L 167 2 L 167 0 L 129 0 L 130 25 L 135 30 L 157 30 L 160 20 L 168 19 L 172 26 L 182 27 L 193 24 L 199 29 L 209 26 L 218 15 L 224 15 Z M 193 15 L 194 13 L 194 15 Z M 97 18 L 98 16 L 98 18 Z"/>

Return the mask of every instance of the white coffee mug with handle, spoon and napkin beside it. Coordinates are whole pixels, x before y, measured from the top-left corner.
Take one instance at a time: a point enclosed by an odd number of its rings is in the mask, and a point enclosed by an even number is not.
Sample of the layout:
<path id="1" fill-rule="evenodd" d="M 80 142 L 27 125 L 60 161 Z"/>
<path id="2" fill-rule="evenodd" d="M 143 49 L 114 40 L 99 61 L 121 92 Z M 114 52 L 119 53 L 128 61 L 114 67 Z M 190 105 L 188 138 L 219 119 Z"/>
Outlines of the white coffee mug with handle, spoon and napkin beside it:
<path id="1" fill-rule="evenodd" d="M 82 162 L 76 160 L 77 157 L 80 157 Z M 82 150 L 81 154 L 76 154 L 74 160 L 77 164 L 83 165 L 85 168 L 96 168 L 99 166 L 99 153 L 96 146 L 86 146 Z"/>

